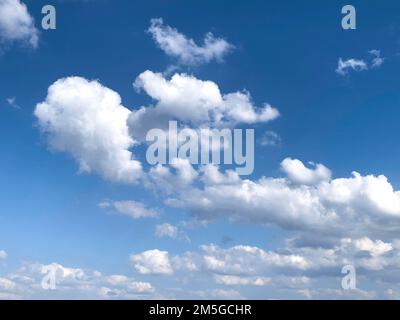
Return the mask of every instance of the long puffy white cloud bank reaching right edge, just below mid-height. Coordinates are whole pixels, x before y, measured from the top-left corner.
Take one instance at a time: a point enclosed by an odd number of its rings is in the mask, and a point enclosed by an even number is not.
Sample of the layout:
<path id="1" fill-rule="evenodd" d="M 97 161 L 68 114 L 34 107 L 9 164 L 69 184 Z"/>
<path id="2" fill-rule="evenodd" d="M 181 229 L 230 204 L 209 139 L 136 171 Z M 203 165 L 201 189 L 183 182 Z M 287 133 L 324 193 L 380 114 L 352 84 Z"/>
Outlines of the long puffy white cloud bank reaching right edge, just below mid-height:
<path id="1" fill-rule="evenodd" d="M 204 220 L 226 215 L 236 221 L 275 224 L 308 234 L 312 231 L 317 242 L 346 235 L 385 239 L 399 231 L 400 192 L 385 176 L 353 173 L 349 178 L 329 180 L 330 171 L 322 165 L 311 170 L 298 160 L 290 160 L 293 163 L 300 165 L 297 169 L 288 166 L 289 179 L 261 177 L 256 181 L 241 179 L 229 170 L 221 173 L 211 166 L 200 175 L 203 185 L 175 189 L 165 203 L 189 209 Z M 167 172 L 171 187 L 174 175 Z M 162 179 L 153 183 L 160 188 L 164 185 Z"/>

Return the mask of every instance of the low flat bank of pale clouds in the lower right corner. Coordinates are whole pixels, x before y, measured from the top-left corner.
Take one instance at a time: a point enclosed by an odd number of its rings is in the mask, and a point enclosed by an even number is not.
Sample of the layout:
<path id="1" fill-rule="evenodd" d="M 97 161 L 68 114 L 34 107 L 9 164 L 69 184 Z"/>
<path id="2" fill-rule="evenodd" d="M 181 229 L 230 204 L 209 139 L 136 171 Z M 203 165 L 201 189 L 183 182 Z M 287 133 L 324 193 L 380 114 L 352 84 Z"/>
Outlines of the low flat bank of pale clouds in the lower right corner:
<path id="1" fill-rule="evenodd" d="M 396 247 L 396 241 L 343 238 L 331 248 L 294 247 L 288 243 L 275 250 L 247 245 L 222 248 L 211 244 L 201 246 L 200 251 L 178 254 L 170 261 L 174 271 L 184 279 L 206 276 L 203 282 L 212 280 L 224 286 L 266 286 L 296 295 L 308 290 L 308 298 L 317 298 L 314 294 L 321 291 L 328 298 L 343 295 L 356 299 L 361 292 L 376 294 L 358 288 L 348 296 L 337 290 L 343 277 L 342 267 L 353 265 L 361 287 L 374 284 L 382 296 L 388 288 L 398 287 L 394 284 L 400 267 L 400 247 Z"/>

